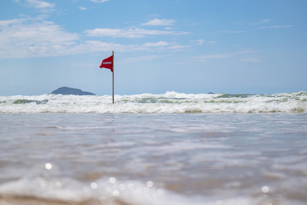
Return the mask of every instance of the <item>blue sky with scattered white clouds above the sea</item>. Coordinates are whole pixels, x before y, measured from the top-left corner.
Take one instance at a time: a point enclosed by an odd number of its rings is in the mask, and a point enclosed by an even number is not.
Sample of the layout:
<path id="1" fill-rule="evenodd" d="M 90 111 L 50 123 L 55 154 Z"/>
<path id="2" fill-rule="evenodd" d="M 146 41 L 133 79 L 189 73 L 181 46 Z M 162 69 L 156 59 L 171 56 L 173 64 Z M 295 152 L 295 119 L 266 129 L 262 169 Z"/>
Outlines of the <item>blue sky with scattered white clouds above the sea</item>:
<path id="1" fill-rule="evenodd" d="M 2 0 L 0 95 L 307 91 L 305 0 Z"/>

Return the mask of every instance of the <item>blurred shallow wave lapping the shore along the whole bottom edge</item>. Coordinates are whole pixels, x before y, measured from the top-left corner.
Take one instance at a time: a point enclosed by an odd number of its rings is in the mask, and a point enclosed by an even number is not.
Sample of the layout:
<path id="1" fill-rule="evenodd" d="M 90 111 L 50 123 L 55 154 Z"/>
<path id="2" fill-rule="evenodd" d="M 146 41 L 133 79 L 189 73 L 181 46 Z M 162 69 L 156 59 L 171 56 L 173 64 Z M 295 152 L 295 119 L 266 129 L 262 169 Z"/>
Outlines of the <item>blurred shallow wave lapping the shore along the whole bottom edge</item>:
<path id="1" fill-rule="evenodd" d="M 293 199 L 270 195 L 240 196 L 235 191 L 218 196 L 180 194 L 152 181 L 118 180 L 114 177 L 80 181 L 62 176 L 60 168 L 38 164 L 24 177 L 0 184 L 0 204 L 11 205 L 217 205 L 296 204 Z M 221 192 L 222 193 L 222 192 Z M 263 192 L 266 193 L 266 192 Z"/>

